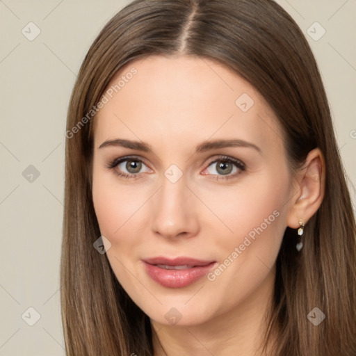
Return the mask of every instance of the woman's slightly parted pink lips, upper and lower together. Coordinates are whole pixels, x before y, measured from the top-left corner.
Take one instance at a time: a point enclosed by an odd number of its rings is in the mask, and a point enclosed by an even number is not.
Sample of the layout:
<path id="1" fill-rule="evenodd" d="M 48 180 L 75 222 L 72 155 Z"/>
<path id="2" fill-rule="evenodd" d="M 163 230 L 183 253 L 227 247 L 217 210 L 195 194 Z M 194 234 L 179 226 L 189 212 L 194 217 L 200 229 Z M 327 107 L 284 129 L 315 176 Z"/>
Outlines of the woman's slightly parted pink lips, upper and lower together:
<path id="1" fill-rule="evenodd" d="M 206 275 L 209 270 L 216 265 L 216 261 L 205 261 L 201 259 L 193 259 L 191 257 L 176 257 L 168 259 L 166 257 L 154 257 L 144 259 L 145 270 L 147 275 L 155 282 L 168 288 L 182 288 L 193 284 L 201 277 Z M 188 266 L 184 269 L 165 269 L 162 266 Z"/>

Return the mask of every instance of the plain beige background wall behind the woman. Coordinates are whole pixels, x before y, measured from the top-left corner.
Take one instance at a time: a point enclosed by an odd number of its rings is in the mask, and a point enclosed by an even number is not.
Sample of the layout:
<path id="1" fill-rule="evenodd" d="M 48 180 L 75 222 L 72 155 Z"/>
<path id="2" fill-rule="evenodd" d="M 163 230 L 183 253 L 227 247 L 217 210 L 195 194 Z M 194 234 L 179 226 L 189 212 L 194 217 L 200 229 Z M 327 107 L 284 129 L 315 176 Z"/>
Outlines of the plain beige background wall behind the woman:
<path id="1" fill-rule="evenodd" d="M 65 355 L 58 276 L 67 104 L 91 42 L 128 2 L 0 0 L 0 355 Z M 355 202 L 356 1 L 278 2 L 316 54 Z M 35 34 L 29 22 L 40 29 L 32 41 L 22 34 Z M 317 41 L 308 34 L 322 34 L 314 22 L 326 31 Z"/>

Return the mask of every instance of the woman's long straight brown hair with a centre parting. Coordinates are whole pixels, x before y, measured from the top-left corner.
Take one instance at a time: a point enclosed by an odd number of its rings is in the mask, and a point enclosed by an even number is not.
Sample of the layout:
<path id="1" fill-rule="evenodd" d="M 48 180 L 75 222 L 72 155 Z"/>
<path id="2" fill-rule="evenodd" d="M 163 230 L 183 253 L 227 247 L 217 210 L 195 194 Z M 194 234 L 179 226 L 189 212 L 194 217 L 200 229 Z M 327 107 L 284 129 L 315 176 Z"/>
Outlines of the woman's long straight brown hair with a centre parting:
<path id="1" fill-rule="evenodd" d="M 67 355 L 153 355 L 148 316 L 122 289 L 106 254 L 93 248 L 100 231 L 91 190 L 96 105 L 123 65 L 151 54 L 217 60 L 250 82 L 280 122 L 292 174 L 311 149 L 321 149 L 325 196 L 299 254 L 296 231 L 286 228 L 266 343 L 277 330 L 273 355 L 355 356 L 356 227 L 345 172 L 316 60 L 273 0 L 136 0 L 90 47 L 67 115 L 61 259 Z M 326 316 L 317 327 L 307 319 L 314 307 Z"/>

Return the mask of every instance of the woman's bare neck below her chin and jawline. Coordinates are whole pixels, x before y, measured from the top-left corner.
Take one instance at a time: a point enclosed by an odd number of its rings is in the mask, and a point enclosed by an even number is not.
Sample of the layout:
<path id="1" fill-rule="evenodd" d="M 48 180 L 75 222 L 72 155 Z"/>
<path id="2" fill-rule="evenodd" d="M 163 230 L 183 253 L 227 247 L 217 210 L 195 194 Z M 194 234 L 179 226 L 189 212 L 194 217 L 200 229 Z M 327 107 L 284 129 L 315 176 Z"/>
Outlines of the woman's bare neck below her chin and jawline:
<path id="1" fill-rule="evenodd" d="M 151 320 L 154 356 L 264 356 L 262 342 L 272 307 L 275 272 L 246 300 L 200 325 L 170 326 Z"/>

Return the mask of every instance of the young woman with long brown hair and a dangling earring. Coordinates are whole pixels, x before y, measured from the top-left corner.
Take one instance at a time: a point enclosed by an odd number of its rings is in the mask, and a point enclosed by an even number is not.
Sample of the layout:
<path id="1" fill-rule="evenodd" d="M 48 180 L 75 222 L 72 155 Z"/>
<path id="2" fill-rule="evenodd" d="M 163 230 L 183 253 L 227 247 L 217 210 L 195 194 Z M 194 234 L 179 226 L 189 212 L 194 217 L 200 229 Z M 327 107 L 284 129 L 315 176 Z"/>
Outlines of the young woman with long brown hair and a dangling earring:
<path id="1" fill-rule="evenodd" d="M 356 355 L 350 195 L 274 1 L 133 1 L 83 61 L 66 136 L 67 355 Z"/>

